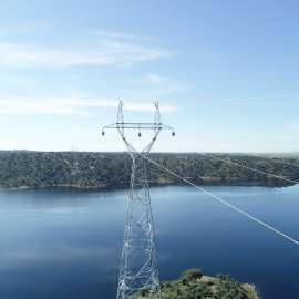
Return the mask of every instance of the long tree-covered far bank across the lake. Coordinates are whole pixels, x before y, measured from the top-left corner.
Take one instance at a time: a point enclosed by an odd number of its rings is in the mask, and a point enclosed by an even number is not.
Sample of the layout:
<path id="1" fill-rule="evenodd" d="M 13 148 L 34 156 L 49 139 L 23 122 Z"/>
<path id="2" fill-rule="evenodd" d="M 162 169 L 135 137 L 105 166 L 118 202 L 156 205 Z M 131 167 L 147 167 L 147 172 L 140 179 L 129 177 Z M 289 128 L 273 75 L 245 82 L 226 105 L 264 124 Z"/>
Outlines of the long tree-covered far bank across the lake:
<path id="1" fill-rule="evenodd" d="M 230 182 L 241 184 L 243 181 L 264 182 L 267 187 L 289 186 L 281 179 L 268 179 L 267 175 L 215 157 L 230 161 L 261 172 L 299 179 L 298 155 L 279 156 L 279 161 L 243 154 L 212 154 L 205 156 L 194 153 L 155 153 L 150 158 L 193 183 L 212 184 L 210 182 Z M 79 171 L 73 168 L 78 163 Z M 80 153 L 80 152 L 27 152 L 0 151 L 0 188 L 44 188 L 55 186 L 73 186 L 80 188 L 102 188 L 127 186 L 132 161 L 125 153 Z M 182 184 L 177 177 L 162 168 L 147 163 L 151 185 Z M 278 184 L 279 183 L 279 184 Z"/>

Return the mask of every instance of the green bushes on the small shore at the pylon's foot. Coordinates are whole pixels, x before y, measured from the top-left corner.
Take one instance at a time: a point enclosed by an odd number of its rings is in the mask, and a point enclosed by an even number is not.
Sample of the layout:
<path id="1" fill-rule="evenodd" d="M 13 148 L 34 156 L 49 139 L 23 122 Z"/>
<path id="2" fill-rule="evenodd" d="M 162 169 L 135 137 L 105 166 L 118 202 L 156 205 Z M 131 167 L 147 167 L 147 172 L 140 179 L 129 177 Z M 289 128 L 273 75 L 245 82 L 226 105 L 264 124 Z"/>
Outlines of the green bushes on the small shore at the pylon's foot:
<path id="1" fill-rule="evenodd" d="M 202 269 L 184 271 L 181 279 L 162 282 L 163 299 L 255 299 L 256 293 L 246 285 L 240 285 L 229 275 L 218 274 L 216 278 L 204 277 Z M 141 290 L 135 298 L 147 298 Z"/>

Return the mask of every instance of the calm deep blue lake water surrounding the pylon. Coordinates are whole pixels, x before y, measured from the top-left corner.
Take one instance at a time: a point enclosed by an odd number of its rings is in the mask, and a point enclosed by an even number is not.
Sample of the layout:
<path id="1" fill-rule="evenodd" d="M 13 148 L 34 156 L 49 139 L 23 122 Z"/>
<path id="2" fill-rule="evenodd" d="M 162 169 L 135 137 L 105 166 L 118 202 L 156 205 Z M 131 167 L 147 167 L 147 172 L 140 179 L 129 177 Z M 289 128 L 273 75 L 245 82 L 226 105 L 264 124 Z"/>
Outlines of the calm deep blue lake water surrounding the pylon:
<path id="1" fill-rule="evenodd" d="M 299 186 L 206 186 L 299 239 Z M 189 268 L 299 298 L 299 246 L 193 187 L 151 189 L 161 280 Z M 115 299 L 127 190 L 0 192 L 1 299 Z"/>

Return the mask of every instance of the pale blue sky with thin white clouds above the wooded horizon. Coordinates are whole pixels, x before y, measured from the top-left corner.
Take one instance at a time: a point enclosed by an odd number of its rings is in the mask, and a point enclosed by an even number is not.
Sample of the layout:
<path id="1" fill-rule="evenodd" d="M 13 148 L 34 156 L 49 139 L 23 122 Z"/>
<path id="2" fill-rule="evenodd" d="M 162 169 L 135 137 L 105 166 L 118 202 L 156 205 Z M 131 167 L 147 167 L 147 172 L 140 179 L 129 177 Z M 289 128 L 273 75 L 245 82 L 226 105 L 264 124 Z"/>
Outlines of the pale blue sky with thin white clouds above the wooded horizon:
<path id="1" fill-rule="evenodd" d="M 124 151 L 101 136 L 123 101 L 125 122 L 158 102 L 175 128 L 153 151 L 299 151 L 298 16 L 297 0 L 2 1 L 0 150 Z"/>

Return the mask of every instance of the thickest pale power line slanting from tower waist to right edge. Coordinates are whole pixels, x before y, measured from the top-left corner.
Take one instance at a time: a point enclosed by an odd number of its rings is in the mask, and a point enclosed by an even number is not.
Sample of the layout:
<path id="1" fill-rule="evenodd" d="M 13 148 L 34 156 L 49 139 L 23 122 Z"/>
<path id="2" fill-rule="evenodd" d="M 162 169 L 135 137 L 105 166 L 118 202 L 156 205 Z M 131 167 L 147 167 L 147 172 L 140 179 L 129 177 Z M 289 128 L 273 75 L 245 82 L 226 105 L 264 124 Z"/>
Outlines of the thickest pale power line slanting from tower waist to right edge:
<path id="1" fill-rule="evenodd" d="M 164 169 L 165 172 L 167 172 L 167 173 L 169 173 L 169 174 L 176 176 L 177 178 L 179 178 L 179 179 L 184 181 L 185 183 L 189 184 L 190 186 L 193 186 L 193 187 L 195 187 L 195 188 L 197 188 L 197 189 L 204 192 L 205 194 L 207 194 L 207 195 L 209 195 L 210 197 L 214 197 L 215 199 L 221 202 L 223 204 L 225 204 L 225 205 L 227 205 L 227 206 L 234 208 L 235 210 L 237 210 L 237 212 L 241 213 L 243 215 L 247 216 L 248 218 L 250 218 L 250 219 L 257 221 L 258 224 L 260 224 L 260 225 L 262 225 L 262 226 L 265 226 L 265 227 L 271 229 L 272 231 L 279 234 L 280 236 L 282 236 L 282 237 L 285 237 L 285 238 L 291 240 L 292 243 L 295 243 L 295 244 L 297 244 L 297 245 L 299 245 L 299 241 L 295 240 L 293 238 L 287 236 L 287 235 L 283 234 L 283 233 L 279 231 L 278 229 L 276 229 L 276 228 L 274 228 L 274 227 L 271 227 L 271 226 L 265 224 L 264 221 L 261 221 L 261 220 L 255 218 L 254 216 L 249 215 L 248 213 L 246 213 L 246 212 L 244 212 L 244 210 L 241 210 L 241 209 L 235 207 L 234 205 L 231 205 L 231 204 L 225 202 L 224 199 L 219 198 L 218 196 L 216 196 L 216 195 L 214 195 L 214 194 L 212 194 L 212 193 L 205 190 L 204 188 L 202 188 L 202 187 L 199 187 L 199 186 L 196 186 L 195 184 L 193 184 L 193 183 L 189 182 L 188 179 L 186 179 L 186 178 L 184 178 L 184 177 L 182 177 L 182 176 L 175 174 L 174 172 L 167 169 L 166 167 L 162 166 L 161 164 L 154 162 L 153 159 L 151 159 L 151 158 L 148 158 L 148 157 L 142 155 L 142 154 L 141 154 L 140 152 L 137 152 L 134 147 L 132 147 L 132 150 L 133 150 L 137 155 L 142 156 L 143 158 L 145 158 L 146 161 L 151 162 L 152 164 L 158 166 L 159 168 Z"/>

